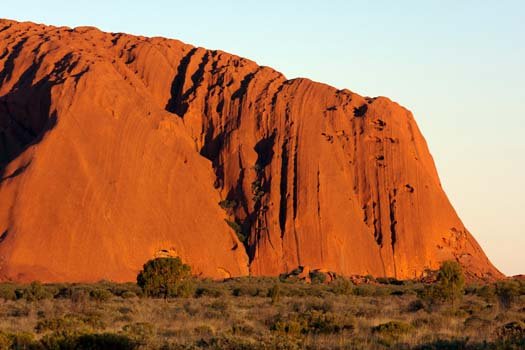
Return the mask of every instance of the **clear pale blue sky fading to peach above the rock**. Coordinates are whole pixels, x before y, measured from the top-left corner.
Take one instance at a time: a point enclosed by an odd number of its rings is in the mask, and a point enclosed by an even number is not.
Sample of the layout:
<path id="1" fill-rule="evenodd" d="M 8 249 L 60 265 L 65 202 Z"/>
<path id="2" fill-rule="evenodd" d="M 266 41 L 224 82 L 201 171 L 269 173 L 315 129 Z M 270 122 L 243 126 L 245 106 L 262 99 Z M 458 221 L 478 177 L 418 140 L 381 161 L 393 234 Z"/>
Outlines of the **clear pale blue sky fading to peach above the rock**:
<path id="1" fill-rule="evenodd" d="M 176 38 L 388 96 L 491 261 L 525 274 L 525 1 L 3 0 L 0 18 Z"/>

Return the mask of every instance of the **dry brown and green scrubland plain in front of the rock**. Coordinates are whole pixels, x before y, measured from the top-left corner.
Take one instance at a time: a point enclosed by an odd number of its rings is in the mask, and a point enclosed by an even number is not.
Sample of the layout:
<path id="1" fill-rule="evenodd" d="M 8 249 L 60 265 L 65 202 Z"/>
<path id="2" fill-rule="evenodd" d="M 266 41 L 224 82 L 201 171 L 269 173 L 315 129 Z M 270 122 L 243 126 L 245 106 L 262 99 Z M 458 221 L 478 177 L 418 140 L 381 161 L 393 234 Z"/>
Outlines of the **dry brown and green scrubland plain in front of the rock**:
<path id="1" fill-rule="evenodd" d="M 453 302 L 432 300 L 439 279 L 327 280 L 191 279 L 178 296 L 135 283 L 4 283 L 0 349 L 525 347 L 523 280 L 467 284 Z"/>

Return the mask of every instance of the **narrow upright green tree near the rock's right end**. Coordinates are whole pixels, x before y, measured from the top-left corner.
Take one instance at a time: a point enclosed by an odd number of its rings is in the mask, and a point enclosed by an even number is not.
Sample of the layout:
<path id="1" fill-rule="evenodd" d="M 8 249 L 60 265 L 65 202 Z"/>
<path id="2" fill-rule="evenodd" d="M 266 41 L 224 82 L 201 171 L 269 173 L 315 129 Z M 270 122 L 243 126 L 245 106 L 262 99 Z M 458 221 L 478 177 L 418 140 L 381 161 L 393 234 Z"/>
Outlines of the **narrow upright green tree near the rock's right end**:
<path id="1" fill-rule="evenodd" d="M 455 304 L 463 296 L 464 288 L 465 276 L 461 265 L 457 261 L 444 261 L 438 271 L 434 298 Z"/>

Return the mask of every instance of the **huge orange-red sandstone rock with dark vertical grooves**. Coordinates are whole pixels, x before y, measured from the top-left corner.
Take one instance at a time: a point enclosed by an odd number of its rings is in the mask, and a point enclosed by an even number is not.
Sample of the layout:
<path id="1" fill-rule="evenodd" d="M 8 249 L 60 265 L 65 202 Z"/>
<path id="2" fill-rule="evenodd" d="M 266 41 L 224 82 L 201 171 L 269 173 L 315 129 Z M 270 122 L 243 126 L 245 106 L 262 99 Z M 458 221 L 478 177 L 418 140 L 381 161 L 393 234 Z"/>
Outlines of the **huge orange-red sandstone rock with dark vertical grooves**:
<path id="1" fill-rule="evenodd" d="M 387 98 L 163 38 L 1 20 L 0 39 L 0 278 L 133 280 L 156 254 L 214 278 L 501 276 Z"/>

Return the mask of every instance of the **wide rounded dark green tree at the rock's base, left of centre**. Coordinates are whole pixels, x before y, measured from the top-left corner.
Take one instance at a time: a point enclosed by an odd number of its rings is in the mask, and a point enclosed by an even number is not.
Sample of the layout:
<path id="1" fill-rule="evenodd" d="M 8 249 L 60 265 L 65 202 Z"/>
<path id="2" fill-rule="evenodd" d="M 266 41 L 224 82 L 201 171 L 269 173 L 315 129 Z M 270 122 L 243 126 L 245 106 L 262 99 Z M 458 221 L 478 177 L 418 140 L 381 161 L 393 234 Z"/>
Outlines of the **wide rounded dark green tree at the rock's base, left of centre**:
<path id="1" fill-rule="evenodd" d="M 153 259 L 144 264 L 137 276 L 137 284 L 145 296 L 187 297 L 193 292 L 191 267 L 178 257 Z"/>

